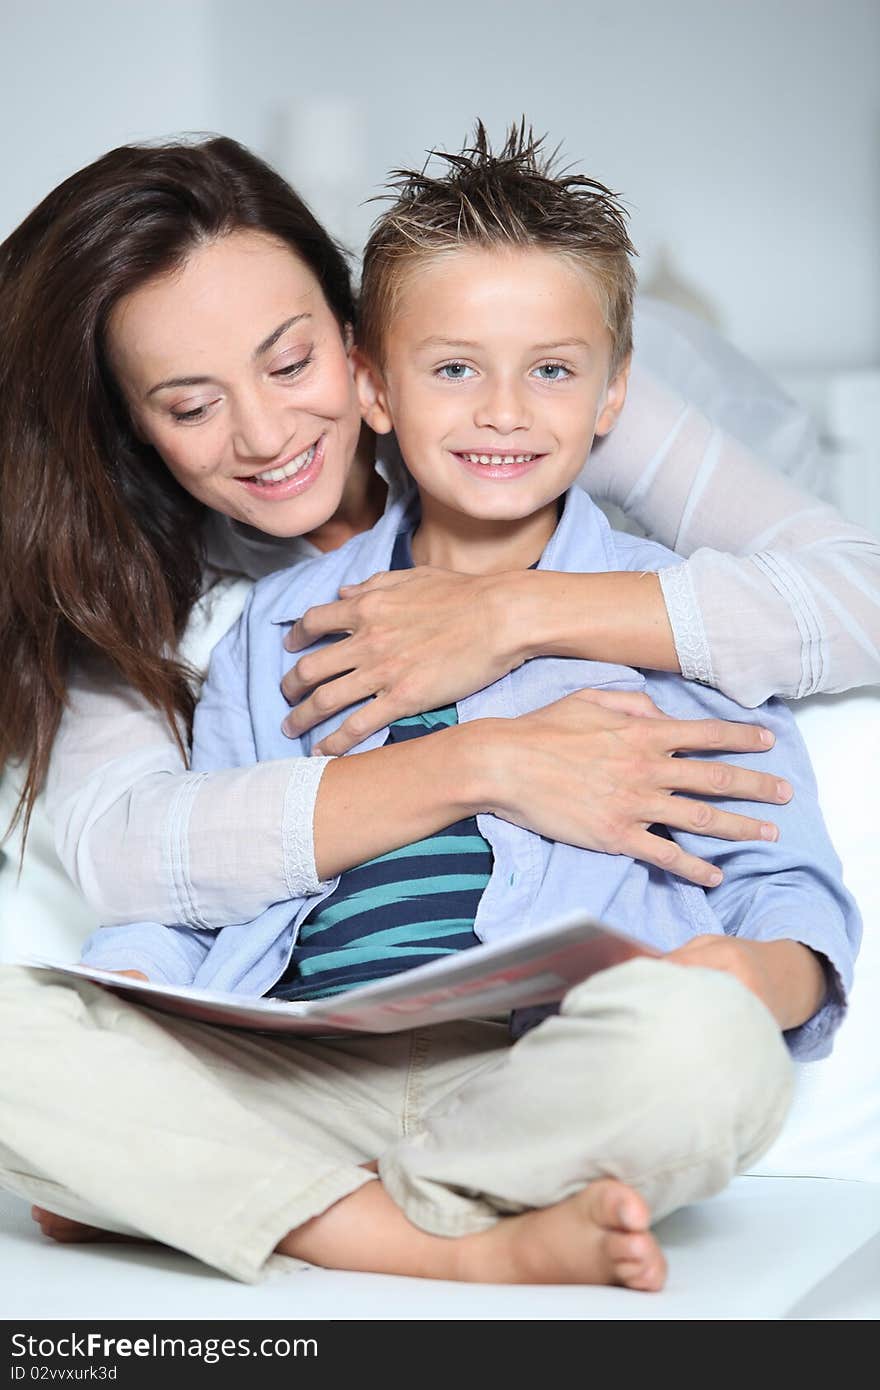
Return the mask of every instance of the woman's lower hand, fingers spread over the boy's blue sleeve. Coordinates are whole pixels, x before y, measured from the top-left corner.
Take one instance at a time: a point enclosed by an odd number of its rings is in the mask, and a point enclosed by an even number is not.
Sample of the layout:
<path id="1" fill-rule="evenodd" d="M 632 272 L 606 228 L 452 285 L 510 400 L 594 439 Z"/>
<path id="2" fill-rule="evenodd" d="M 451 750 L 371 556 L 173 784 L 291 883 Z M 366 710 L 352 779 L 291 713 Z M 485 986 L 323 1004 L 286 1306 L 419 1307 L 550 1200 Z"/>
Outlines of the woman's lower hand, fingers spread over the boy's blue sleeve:
<path id="1" fill-rule="evenodd" d="M 774 774 L 670 756 L 708 749 L 766 752 L 773 744 L 766 730 L 669 719 L 642 694 L 577 691 L 531 714 L 481 723 L 495 796 L 485 810 L 549 840 L 630 855 L 702 887 L 717 885 L 720 869 L 652 834 L 651 826 L 720 840 L 776 840 L 776 826 L 701 798 L 777 805 L 791 799 L 791 787 Z"/>

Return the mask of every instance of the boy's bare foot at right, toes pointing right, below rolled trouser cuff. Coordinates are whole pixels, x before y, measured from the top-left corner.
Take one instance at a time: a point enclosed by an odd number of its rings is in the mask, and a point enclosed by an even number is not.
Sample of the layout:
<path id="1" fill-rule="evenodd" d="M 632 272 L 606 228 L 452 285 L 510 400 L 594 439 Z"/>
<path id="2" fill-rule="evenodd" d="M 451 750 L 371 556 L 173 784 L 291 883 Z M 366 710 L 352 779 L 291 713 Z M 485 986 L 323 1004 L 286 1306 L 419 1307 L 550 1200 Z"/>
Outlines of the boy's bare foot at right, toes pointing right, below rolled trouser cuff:
<path id="1" fill-rule="evenodd" d="M 651 1212 L 631 1187 L 601 1179 L 555 1207 L 506 1216 L 466 1237 L 462 1275 L 487 1283 L 623 1284 L 656 1291 L 666 1259 Z"/>

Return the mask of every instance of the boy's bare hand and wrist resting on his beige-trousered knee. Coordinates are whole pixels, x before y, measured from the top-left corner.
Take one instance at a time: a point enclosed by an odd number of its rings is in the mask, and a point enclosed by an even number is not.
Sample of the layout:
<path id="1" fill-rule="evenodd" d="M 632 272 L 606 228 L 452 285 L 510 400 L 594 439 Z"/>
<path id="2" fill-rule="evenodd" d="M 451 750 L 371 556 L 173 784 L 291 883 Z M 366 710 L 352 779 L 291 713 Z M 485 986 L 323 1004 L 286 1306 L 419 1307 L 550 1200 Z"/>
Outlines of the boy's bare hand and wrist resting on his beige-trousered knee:
<path id="1" fill-rule="evenodd" d="M 799 941 L 694 937 L 663 959 L 733 974 L 766 1004 L 780 1029 L 806 1023 L 826 997 L 822 960 Z"/>

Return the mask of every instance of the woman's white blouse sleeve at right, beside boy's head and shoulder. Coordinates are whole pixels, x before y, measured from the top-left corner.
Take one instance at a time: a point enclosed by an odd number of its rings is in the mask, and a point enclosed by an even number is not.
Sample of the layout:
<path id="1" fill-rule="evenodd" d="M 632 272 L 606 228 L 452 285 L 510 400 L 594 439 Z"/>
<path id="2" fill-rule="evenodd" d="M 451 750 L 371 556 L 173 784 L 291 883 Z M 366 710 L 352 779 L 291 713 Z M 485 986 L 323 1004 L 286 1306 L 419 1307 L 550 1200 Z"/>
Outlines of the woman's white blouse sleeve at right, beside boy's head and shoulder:
<path id="1" fill-rule="evenodd" d="M 880 681 L 880 541 L 767 467 L 692 403 L 702 395 L 712 409 L 708 354 L 691 349 L 703 378 L 702 391 L 685 388 L 691 400 L 665 379 L 658 368 L 663 331 L 651 327 L 649 364 L 639 360 L 637 339 L 627 404 L 596 443 L 582 482 L 596 500 L 612 502 L 687 557 L 660 571 L 683 676 L 748 708 L 770 695 Z M 676 353 L 680 360 L 680 341 L 667 361 Z M 806 417 L 756 368 L 744 370 L 752 379 L 745 378 L 742 418 L 748 409 L 752 417 L 774 410 L 766 453 L 777 461 L 788 453 L 797 466 L 798 452 L 810 448 Z M 735 416 L 730 379 L 727 373 L 716 420 Z"/>

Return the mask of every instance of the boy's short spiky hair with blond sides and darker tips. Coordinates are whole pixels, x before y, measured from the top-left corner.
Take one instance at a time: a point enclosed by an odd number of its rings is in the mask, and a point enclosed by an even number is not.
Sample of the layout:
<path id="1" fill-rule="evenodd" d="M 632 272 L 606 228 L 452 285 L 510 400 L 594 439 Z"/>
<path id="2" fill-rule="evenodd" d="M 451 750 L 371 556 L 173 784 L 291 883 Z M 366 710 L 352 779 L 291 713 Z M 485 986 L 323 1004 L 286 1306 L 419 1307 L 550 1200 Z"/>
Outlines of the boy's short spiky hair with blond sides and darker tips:
<path id="1" fill-rule="evenodd" d="M 627 214 L 603 183 L 556 171 L 557 150 L 544 153 L 525 121 L 512 125 L 492 153 L 482 121 L 460 154 L 431 150 L 421 170 L 393 170 L 392 206 L 373 227 L 364 250 L 359 332 L 366 354 L 382 364 L 385 331 L 410 271 L 466 246 L 539 247 L 582 265 L 599 295 L 612 335 L 612 373 L 633 350 L 635 249 Z M 430 175 L 431 160 L 446 168 Z"/>

